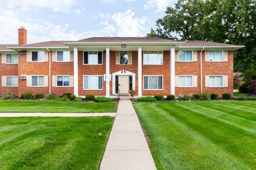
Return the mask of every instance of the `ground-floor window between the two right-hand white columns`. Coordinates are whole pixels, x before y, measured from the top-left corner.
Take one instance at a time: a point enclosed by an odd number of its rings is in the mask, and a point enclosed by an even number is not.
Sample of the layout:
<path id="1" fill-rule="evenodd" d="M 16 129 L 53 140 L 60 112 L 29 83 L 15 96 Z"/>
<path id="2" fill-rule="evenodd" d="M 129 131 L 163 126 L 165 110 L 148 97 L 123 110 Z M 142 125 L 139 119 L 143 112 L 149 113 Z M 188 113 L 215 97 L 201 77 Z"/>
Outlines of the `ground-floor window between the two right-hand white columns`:
<path id="1" fill-rule="evenodd" d="M 162 76 L 144 76 L 145 90 L 162 90 L 163 77 Z"/>

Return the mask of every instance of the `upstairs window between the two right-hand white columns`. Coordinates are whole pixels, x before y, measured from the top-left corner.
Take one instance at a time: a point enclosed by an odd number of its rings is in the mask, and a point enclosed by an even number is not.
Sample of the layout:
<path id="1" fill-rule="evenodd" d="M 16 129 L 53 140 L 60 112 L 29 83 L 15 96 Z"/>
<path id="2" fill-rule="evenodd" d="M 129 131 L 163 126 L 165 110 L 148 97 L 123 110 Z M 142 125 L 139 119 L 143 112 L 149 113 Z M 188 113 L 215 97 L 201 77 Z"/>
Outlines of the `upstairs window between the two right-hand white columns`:
<path id="1" fill-rule="evenodd" d="M 143 65 L 162 65 L 163 51 L 161 52 L 143 52 Z"/>

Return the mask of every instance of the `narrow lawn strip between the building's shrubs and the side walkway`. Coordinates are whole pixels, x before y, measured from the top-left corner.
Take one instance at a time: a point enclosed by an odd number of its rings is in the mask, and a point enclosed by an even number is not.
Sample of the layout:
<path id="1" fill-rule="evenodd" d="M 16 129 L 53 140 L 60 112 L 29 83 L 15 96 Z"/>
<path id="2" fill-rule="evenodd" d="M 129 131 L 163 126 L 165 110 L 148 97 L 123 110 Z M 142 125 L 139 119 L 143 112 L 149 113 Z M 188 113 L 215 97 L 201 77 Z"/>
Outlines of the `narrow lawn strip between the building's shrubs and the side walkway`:
<path id="1" fill-rule="evenodd" d="M 0 100 L 0 112 L 97 113 L 116 112 L 117 103 Z"/>

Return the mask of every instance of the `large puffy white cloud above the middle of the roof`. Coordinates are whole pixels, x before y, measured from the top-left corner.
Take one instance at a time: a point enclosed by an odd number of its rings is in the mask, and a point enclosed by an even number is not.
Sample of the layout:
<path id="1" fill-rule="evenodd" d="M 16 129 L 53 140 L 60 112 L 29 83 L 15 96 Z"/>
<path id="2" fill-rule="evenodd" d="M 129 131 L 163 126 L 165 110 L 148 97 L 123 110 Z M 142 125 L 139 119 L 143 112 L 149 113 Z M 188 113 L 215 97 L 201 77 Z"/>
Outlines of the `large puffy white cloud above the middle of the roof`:
<path id="1" fill-rule="evenodd" d="M 99 16 L 102 18 L 100 24 L 103 25 L 101 31 L 105 35 L 118 37 L 143 36 L 142 32 L 145 31 L 144 25 L 147 18 L 144 16 L 141 18 L 135 17 L 132 10 L 112 15 L 100 13 Z"/>

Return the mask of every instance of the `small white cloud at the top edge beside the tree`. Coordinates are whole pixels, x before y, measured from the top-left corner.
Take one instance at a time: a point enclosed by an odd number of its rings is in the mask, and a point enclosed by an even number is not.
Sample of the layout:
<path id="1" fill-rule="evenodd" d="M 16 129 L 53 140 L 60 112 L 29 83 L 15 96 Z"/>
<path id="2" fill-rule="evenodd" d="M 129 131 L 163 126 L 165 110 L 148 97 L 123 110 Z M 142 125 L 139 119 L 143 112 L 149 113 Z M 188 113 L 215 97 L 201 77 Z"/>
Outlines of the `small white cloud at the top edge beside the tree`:
<path id="1" fill-rule="evenodd" d="M 166 7 L 172 5 L 174 2 L 174 0 L 149 0 L 146 4 L 143 5 L 143 8 L 145 10 L 157 8 L 155 12 L 160 12 L 165 11 Z"/>

